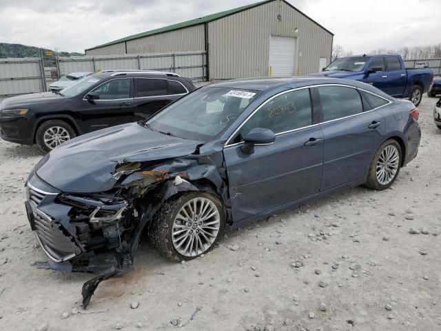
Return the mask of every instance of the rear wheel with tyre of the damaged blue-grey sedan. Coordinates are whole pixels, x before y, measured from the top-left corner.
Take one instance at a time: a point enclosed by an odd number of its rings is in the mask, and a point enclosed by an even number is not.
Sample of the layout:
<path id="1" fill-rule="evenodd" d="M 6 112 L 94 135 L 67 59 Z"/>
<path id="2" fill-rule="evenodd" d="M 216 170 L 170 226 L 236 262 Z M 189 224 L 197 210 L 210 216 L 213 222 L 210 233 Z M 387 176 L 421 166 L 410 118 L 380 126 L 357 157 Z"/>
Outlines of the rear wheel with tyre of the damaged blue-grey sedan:
<path id="1" fill-rule="evenodd" d="M 402 160 L 401 147 L 396 140 L 384 141 L 373 156 L 366 186 L 373 190 L 385 190 L 398 177 Z"/>

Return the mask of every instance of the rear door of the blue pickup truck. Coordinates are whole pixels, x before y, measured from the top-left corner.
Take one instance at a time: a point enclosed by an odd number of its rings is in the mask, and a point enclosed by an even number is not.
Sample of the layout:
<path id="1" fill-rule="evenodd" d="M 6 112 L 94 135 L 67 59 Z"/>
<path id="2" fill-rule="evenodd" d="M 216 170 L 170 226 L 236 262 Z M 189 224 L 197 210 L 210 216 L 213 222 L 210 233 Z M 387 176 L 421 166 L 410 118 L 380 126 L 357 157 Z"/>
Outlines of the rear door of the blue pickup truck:
<path id="1" fill-rule="evenodd" d="M 402 68 L 398 57 L 384 57 L 385 70 L 382 74 L 384 88 L 382 90 L 392 97 L 401 97 L 406 87 L 406 69 Z"/>

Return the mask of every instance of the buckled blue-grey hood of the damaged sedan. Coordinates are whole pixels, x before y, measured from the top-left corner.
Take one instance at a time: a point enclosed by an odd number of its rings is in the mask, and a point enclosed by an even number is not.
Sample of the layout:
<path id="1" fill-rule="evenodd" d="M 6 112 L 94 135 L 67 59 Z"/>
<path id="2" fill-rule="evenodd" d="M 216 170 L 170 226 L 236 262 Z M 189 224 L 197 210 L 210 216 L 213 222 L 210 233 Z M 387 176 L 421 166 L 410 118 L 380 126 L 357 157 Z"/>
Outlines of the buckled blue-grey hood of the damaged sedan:
<path id="1" fill-rule="evenodd" d="M 114 187 L 118 165 L 192 154 L 201 141 L 171 137 L 138 123 L 106 128 L 72 139 L 52 150 L 37 175 L 63 192 L 103 192 Z"/>

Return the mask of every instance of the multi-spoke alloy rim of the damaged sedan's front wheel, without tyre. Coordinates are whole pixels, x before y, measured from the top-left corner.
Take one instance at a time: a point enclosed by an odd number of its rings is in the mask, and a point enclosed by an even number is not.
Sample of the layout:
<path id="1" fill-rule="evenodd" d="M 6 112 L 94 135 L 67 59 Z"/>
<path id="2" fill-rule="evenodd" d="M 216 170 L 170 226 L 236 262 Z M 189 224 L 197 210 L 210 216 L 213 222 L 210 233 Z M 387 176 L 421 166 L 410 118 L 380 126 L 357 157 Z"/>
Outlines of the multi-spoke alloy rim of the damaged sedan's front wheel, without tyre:
<path id="1" fill-rule="evenodd" d="M 220 230 L 220 214 L 213 201 L 198 197 L 187 201 L 174 218 L 172 242 L 184 257 L 196 257 L 208 250 Z"/>

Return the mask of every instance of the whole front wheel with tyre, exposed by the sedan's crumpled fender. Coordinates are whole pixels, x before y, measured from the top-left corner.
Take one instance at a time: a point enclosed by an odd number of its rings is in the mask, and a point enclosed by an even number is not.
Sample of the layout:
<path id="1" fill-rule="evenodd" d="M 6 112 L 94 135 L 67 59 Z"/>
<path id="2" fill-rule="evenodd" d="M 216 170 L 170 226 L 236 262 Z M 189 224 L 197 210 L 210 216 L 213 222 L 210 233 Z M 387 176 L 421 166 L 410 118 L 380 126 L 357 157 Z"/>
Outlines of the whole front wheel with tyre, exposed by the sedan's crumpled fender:
<path id="1" fill-rule="evenodd" d="M 190 192 L 165 201 L 156 212 L 151 237 L 158 251 L 172 261 L 191 260 L 212 250 L 225 226 L 218 197 Z"/>

